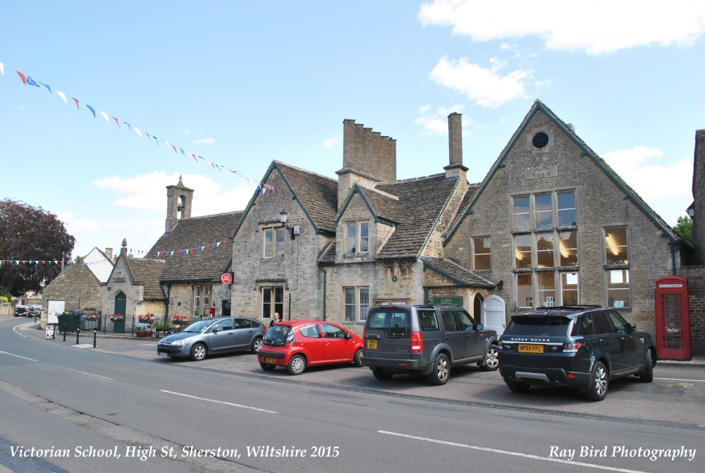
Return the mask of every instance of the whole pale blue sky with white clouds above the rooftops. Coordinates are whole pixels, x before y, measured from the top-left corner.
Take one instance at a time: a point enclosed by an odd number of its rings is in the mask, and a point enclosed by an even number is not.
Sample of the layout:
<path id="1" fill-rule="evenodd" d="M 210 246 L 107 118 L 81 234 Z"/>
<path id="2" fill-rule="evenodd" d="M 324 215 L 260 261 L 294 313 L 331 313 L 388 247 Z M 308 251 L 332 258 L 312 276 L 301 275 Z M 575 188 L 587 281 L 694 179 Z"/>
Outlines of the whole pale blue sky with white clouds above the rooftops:
<path id="1" fill-rule="evenodd" d="M 672 226 L 692 202 L 701 1 L 3 0 L 0 18 L 0 199 L 57 214 L 74 256 L 149 250 L 180 175 L 194 216 L 244 209 L 273 159 L 336 178 L 346 118 L 396 139 L 412 178 L 443 172 L 462 113 L 479 182 L 535 99 Z"/>

